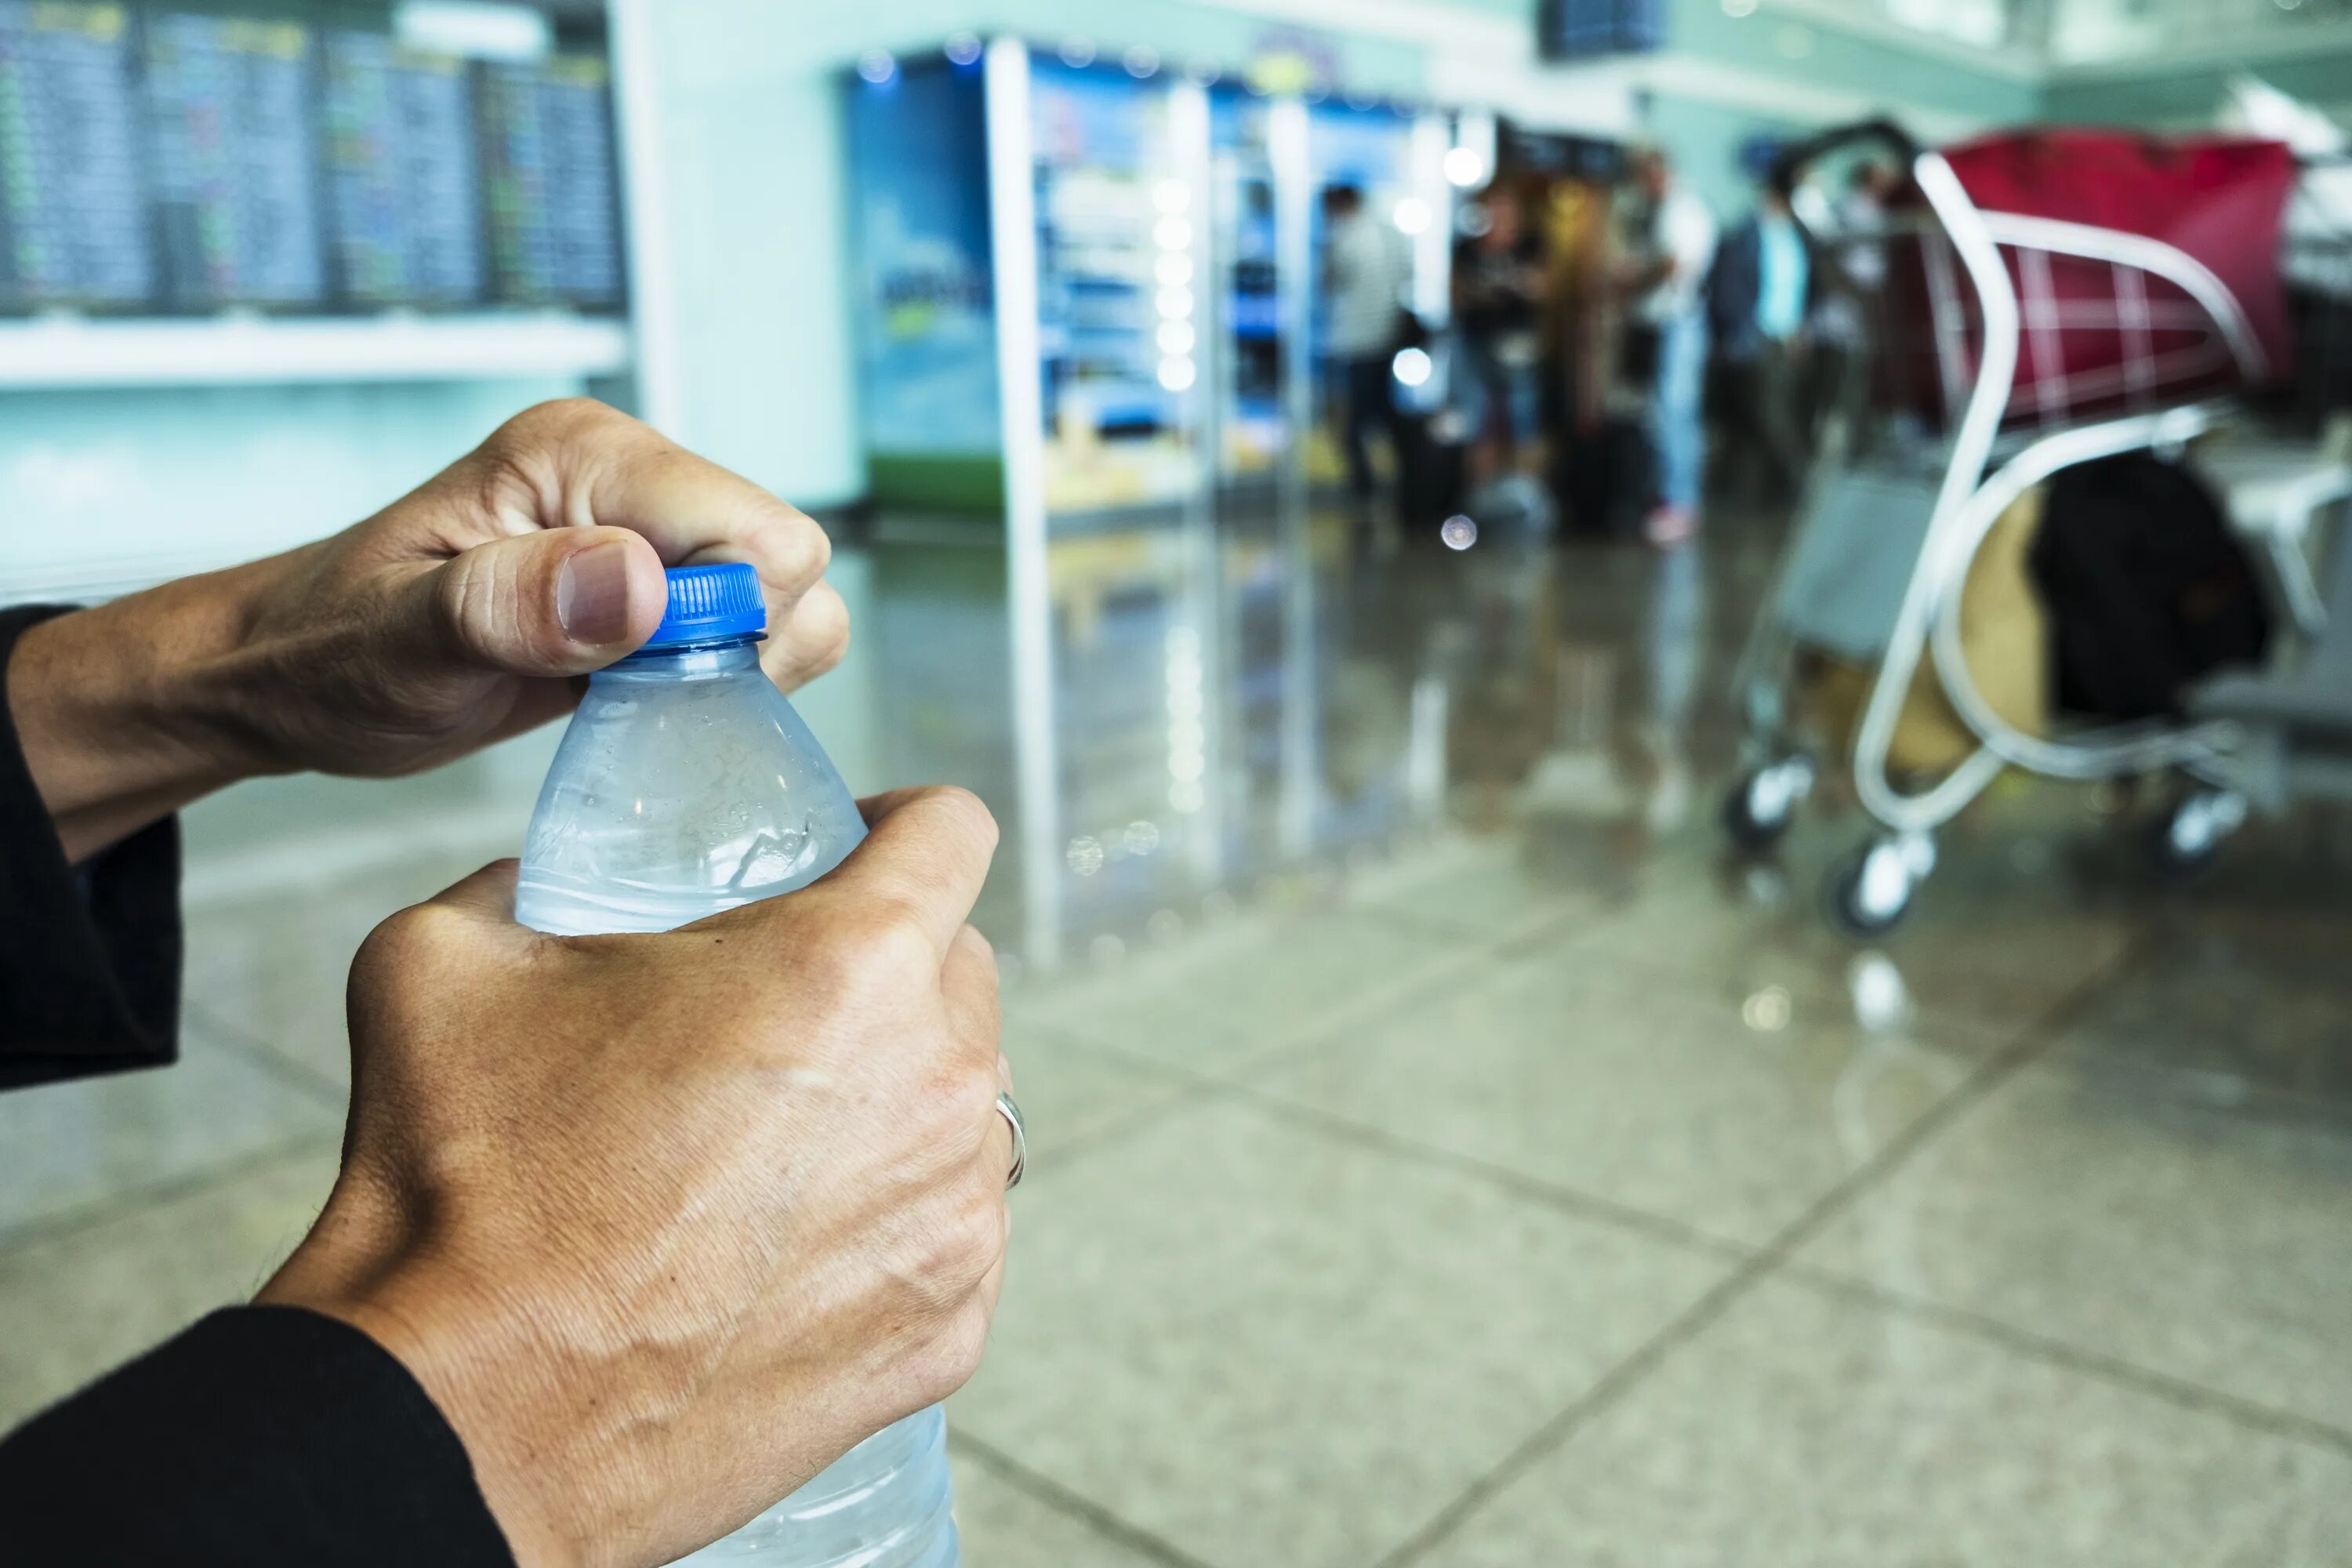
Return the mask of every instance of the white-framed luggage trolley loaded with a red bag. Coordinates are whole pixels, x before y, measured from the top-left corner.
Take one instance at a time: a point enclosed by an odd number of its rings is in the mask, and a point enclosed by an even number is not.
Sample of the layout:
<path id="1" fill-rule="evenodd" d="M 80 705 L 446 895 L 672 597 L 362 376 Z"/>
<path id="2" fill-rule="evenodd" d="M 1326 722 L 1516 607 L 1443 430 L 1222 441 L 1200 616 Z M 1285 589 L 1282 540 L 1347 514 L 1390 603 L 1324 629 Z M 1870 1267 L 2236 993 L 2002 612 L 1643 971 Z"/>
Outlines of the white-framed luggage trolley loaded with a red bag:
<path id="1" fill-rule="evenodd" d="M 2296 165 L 2270 141 L 2107 132 L 1987 136 L 1936 153 L 1877 120 L 1790 148 L 1783 172 L 1856 141 L 1893 146 L 1910 169 L 1882 233 L 1872 402 L 1886 428 L 1860 454 L 1832 435 L 1809 480 L 1733 677 L 1748 741 L 1724 825 L 1762 849 L 1811 792 L 1816 764 L 1790 701 L 1799 656 L 1870 670 L 1851 773 L 1877 827 L 1828 886 L 1839 924 L 1867 936 L 1903 917 L 1936 865 L 1936 830 L 2004 766 L 2072 780 L 2178 769 L 2194 783 L 2166 832 L 2180 830 L 2185 853 L 2244 818 L 2232 771 L 2244 691 L 2225 703 L 2232 712 L 2027 733 L 1969 668 L 1962 585 L 1997 520 L 2034 484 L 2114 454 L 2178 451 L 2232 418 L 2237 393 L 2284 369 L 2274 242 Z M 2237 524 L 2310 625 L 2321 595 L 2298 541 L 2312 510 L 2352 491 L 2352 475 L 2286 451 L 2249 482 L 2272 503 Z M 1922 670 L 1971 750 L 1933 783 L 1905 788 L 1889 757 Z"/>

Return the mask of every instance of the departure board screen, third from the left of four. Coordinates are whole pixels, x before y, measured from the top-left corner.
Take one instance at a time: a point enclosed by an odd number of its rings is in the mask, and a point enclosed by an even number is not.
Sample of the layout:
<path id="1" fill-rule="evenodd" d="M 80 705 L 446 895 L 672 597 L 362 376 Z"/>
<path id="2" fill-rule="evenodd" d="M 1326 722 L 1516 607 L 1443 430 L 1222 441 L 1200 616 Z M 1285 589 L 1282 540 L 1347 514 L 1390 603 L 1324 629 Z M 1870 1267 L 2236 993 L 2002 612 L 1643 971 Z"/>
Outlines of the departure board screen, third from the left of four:
<path id="1" fill-rule="evenodd" d="M 470 66 L 381 33 L 327 33 L 329 233 L 355 306 L 466 306 L 489 287 Z"/>

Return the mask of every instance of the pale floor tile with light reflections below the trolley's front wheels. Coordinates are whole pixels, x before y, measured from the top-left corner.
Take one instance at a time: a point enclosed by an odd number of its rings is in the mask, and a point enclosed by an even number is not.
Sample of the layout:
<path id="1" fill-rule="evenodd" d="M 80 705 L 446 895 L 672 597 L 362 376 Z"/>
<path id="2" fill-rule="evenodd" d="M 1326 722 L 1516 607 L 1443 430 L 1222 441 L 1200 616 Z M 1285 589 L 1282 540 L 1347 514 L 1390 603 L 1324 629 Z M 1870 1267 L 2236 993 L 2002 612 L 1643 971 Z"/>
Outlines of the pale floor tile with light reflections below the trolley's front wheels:
<path id="1" fill-rule="evenodd" d="M 1265 1093 L 1759 1246 L 1933 1110 L 1992 1044 L 1853 1023 L 1813 985 L 1724 1001 L 1590 952 L 1275 1063 Z"/>

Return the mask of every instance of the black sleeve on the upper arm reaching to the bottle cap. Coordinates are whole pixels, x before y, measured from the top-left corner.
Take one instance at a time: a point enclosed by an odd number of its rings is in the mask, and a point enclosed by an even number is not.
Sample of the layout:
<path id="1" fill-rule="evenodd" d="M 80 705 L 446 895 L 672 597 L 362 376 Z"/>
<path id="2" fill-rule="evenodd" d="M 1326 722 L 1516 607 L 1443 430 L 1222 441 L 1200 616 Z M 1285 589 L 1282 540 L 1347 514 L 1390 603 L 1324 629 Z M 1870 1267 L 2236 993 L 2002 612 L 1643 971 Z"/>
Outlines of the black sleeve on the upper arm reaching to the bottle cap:
<path id="1" fill-rule="evenodd" d="M 68 865 L 7 712 L 7 661 L 61 609 L 0 614 L 0 1088 L 169 1063 L 179 823 Z"/>

